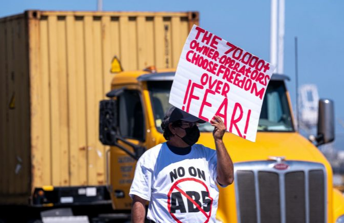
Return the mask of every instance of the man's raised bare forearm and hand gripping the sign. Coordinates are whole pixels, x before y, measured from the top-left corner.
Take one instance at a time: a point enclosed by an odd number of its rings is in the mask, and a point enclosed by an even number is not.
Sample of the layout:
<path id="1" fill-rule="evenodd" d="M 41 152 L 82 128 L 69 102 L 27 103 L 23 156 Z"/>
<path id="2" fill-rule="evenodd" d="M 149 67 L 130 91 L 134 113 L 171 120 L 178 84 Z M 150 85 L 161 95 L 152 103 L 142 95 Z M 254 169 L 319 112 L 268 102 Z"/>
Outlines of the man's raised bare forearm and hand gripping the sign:
<path id="1" fill-rule="evenodd" d="M 219 116 L 214 116 L 214 119 L 211 120 L 211 125 L 215 127 L 213 131 L 213 137 L 215 141 L 216 155 L 218 159 L 217 180 L 220 184 L 227 186 L 229 184 L 232 184 L 234 180 L 234 172 L 233 162 L 230 159 L 225 144 L 222 141 L 222 138 L 226 132 L 226 126 Z"/>

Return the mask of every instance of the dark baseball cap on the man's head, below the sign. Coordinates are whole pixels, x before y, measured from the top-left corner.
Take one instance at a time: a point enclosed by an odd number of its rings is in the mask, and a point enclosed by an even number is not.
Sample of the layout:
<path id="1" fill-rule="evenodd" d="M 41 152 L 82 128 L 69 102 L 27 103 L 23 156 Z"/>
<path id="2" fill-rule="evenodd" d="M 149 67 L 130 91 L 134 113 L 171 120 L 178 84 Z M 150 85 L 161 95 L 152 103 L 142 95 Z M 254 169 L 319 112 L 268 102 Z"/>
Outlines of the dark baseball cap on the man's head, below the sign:
<path id="1" fill-rule="evenodd" d="M 164 129 L 164 127 L 168 126 L 169 123 L 175 122 L 178 120 L 183 120 L 186 122 L 206 123 L 206 121 L 200 118 L 197 118 L 196 116 L 193 116 L 187 112 L 184 112 L 184 110 L 182 109 L 172 106 L 169 109 L 167 109 L 164 120 L 162 120 L 161 127 L 162 129 Z"/>

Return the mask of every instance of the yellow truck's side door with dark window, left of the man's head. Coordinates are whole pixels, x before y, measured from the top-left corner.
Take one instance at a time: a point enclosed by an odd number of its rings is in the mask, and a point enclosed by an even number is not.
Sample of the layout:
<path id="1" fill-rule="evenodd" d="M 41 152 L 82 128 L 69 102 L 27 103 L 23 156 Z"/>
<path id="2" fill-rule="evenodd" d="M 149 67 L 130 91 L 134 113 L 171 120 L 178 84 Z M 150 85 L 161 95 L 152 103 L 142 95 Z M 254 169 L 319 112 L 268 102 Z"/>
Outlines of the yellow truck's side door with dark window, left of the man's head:
<path id="1" fill-rule="evenodd" d="M 136 89 L 122 89 L 116 92 L 113 100 L 102 102 L 114 103 L 111 108 L 114 110 L 113 117 L 110 117 L 113 131 L 109 133 L 110 137 L 107 136 L 110 138 L 108 144 L 111 145 L 110 151 L 106 154 L 107 188 L 115 210 L 130 209 L 132 200 L 129 197 L 129 190 L 134 177 L 136 160 L 146 150 L 144 147 L 146 116 L 143 114 L 141 93 Z M 103 116 L 100 117 L 103 119 L 103 121 L 100 120 L 101 123 L 103 122 L 103 126 L 100 123 L 101 132 L 102 129 L 108 129 L 106 124 L 104 127 L 104 119 L 106 120 L 106 116 L 109 115 L 104 115 L 102 104 L 100 106 L 100 116 Z M 104 135 L 100 133 L 102 134 Z"/>

